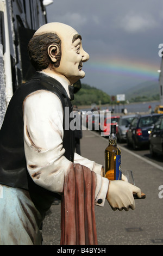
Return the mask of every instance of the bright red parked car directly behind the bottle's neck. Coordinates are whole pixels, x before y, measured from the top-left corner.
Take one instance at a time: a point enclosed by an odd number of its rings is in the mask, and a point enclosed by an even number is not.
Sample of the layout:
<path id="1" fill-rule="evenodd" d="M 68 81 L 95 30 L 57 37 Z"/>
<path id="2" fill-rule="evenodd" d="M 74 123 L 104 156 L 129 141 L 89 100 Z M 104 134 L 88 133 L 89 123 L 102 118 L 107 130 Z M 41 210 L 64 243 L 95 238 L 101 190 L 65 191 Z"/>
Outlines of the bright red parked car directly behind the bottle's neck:
<path id="1" fill-rule="evenodd" d="M 115 124 L 117 127 L 116 129 L 116 133 L 118 130 L 118 121 L 120 120 L 120 115 L 113 115 L 111 116 L 111 120 L 110 118 L 105 118 L 104 120 L 104 124 L 103 124 L 103 136 L 108 137 L 110 135 L 110 125 L 111 124 Z"/>

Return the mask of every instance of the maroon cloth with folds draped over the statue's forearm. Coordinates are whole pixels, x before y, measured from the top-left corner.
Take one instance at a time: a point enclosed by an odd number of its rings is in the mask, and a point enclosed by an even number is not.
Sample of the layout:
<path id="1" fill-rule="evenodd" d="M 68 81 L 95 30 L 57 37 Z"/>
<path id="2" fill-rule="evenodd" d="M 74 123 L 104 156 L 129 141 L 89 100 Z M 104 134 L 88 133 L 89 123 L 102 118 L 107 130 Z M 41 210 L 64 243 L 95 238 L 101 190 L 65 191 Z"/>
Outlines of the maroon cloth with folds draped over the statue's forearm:
<path id="1" fill-rule="evenodd" d="M 95 221 L 96 174 L 72 164 L 61 200 L 60 245 L 98 245 Z"/>

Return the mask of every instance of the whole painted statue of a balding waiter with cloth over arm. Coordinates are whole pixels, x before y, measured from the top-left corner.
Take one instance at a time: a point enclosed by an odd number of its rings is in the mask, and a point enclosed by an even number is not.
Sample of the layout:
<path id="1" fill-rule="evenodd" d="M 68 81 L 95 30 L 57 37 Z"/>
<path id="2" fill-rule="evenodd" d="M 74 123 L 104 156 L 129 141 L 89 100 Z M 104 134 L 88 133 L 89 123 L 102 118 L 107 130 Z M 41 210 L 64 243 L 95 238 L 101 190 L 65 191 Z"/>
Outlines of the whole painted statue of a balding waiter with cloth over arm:
<path id="1" fill-rule="evenodd" d="M 141 190 L 103 178 L 100 164 L 74 153 L 65 115 L 89 59 L 82 37 L 48 23 L 28 51 L 36 74 L 12 96 L 0 132 L 0 244 L 41 245 L 43 218 L 58 194 L 61 245 L 97 245 L 95 204 L 107 199 L 114 210 L 134 209 L 133 192 L 141 197 Z"/>

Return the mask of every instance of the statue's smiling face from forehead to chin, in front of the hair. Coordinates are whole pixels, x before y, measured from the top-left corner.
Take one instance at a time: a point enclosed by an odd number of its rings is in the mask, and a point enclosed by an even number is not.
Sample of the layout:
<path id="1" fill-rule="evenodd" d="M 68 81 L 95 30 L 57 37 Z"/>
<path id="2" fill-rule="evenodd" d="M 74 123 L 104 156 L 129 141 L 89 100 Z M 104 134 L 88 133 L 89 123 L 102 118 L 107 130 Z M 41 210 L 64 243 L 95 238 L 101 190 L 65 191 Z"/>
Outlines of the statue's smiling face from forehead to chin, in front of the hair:
<path id="1" fill-rule="evenodd" d="M 82 47 L 82 37 L 73 29 L 66 29 L 65 33 L 59 35 L 61 38 L 61 61 L 55 70 L 64 75 L 68 80 L 76 82 L 85 76 L 83 63 L 89 59 Z"/>

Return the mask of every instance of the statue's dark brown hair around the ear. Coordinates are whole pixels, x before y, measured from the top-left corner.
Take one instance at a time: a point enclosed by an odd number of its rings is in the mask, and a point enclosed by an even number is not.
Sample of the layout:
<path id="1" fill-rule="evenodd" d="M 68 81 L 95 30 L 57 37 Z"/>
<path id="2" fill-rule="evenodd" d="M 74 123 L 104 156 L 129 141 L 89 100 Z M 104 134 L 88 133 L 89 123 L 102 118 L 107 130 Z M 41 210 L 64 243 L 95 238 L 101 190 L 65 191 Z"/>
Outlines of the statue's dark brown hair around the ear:
<path id="1" fill-rule="evenodd" d="M 53 63 L 51 58 L 48 56 L 48 47 L 51 44 L 57 44 L 59 47 L 59 53 L 56 56 L 57 62 Z M 28 54 L 30 62 L 36 69 L 36 71 L 41 71 L 46 69 L 49 64 L 58 68 L 61 59 L 61 40 L 59 36 L 55 33 L 45 33 L 41 35 L 35 35 L 30 39 L 28 44 Z"/>

